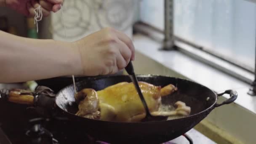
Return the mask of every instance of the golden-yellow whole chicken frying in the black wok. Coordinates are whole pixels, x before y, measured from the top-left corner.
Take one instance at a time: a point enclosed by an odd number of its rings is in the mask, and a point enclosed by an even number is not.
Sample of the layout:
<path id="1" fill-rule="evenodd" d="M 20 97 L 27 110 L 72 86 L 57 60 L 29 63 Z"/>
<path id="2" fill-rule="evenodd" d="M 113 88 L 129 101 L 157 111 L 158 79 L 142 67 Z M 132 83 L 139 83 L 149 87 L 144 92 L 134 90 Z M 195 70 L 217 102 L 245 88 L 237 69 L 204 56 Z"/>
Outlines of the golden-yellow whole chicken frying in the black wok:
<path id="1" fill-rule="evenodd" d="M 152 115 L 189 115 L 190 107 L 181 101 L 176 102 L 177 108 L 173 111 L 159 111 L 161 97 L 176 91 L 177 88 L 174 85 L 161 88 L 139 81 L 139 87 Z M 117 83 L 101 91 L 85 88 L 75 94 L 75 100 L 79 109 L 75 115 L 81 117 L 115 122 L 139 122 L 146 116 L 133 83 Z"/>

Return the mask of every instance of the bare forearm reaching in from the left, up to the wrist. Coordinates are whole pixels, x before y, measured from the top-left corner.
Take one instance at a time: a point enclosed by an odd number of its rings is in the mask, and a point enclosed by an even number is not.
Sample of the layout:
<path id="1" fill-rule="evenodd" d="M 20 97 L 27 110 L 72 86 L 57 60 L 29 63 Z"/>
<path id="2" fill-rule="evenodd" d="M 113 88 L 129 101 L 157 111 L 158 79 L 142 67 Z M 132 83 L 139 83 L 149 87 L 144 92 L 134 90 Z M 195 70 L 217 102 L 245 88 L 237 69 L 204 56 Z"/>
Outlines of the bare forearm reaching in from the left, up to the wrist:
<path id="1" fill-rule="evenodd" d="M 29 39 L 0 31 L 0 83 L 80 75 L 79 56 L 71 43 Z"/>

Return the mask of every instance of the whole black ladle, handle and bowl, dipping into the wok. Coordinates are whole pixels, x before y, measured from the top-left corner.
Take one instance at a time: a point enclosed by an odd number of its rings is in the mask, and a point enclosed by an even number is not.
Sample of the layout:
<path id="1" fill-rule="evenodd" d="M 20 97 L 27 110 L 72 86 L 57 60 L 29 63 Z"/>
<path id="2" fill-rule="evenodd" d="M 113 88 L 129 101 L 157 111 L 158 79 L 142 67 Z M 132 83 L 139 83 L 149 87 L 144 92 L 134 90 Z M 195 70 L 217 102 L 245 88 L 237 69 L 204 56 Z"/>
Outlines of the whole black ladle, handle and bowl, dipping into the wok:
<path id="1" fill-rule="evenodd" d="M 141 120 L 141 121 L 158 121 L 158 120 L 167 120 L 168 116 L 160 116 L 160 115 L 157 115 L 157 116 L 153 116 L 150 114 L 149 112 L 149 108 L 147 107 L 147 103 L 144 99 L 144 96 L 143 94 L 141 93 L 141 89 L 139 88 L 139 83 L 138 83 L 138 80 L 137 80 L 137 77 L 134 73 L 134 70 L 133 70 L 133 64 L 131 63 L 131 61 L 128 63 L 128 65 L 125 67 L 125 70 L 126 72 L 130 75 L 131 77 L 131 80 L 133 81 L 133 84 L 135 85 L 135 88 L 139 94 L 139 97 L 141 99 L 141 102 L 146 110 L 146 117 Z"/>

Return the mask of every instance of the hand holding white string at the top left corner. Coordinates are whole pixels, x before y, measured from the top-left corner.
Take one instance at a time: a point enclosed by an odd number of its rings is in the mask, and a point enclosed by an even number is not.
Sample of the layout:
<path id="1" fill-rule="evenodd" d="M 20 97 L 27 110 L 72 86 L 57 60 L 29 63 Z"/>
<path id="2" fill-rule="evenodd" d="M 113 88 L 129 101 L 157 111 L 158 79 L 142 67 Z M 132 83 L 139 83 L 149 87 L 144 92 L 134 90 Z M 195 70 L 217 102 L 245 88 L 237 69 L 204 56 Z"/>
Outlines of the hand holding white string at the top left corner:
<path id="1" fill-rule="evenodd" d="M 41 5 L 43 16 L 57 12 L 64 0 L 5 0 L 6 6 L 25 16 L 35 16 L 34 9 Z"/>

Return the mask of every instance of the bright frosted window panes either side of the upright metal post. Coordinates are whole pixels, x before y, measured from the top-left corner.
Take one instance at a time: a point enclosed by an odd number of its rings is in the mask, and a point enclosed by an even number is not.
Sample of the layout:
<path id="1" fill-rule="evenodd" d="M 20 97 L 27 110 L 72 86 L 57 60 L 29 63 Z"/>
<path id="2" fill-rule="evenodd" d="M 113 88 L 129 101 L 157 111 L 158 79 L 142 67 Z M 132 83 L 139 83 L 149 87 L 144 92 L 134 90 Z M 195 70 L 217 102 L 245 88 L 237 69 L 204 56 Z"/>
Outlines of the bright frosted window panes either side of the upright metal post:
<path id="1" fill-rule="evenodd" d="M 173 0 L 174 35 L 253 73 L 256 4 L 252 0 Z M 141 21 L 164 31 L 164 0 L 142 0 Z"/>

